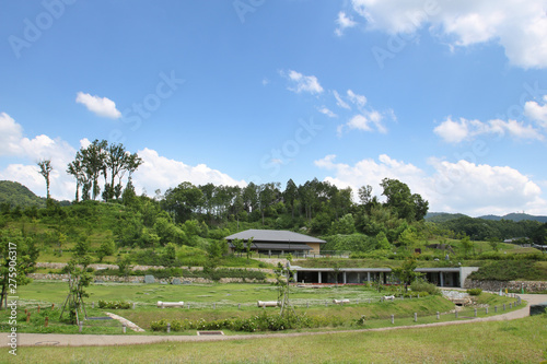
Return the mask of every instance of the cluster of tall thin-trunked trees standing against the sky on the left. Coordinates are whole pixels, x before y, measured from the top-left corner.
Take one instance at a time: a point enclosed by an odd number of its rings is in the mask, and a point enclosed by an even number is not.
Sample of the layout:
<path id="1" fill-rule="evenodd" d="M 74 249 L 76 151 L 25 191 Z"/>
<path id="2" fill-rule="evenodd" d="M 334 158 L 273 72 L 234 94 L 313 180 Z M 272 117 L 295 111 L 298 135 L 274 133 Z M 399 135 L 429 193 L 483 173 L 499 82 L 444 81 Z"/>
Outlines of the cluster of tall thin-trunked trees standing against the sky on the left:
<path id="1" fill-rule="evenodd" d="M 104 201 L 119 199 L 126 173 L 130 185 L 131 174 L 142 163 L 137 153 L 129 153 L 123 144 L 95 139 L 86 148 L 81 148 L 67 167 L 67 173 L 75 178 L 75 201 L 80 200 L 80 189 L 82 200 L 96 200 L 100 196 Z M 101 176 L 104 178 L 102 195 Z"/>

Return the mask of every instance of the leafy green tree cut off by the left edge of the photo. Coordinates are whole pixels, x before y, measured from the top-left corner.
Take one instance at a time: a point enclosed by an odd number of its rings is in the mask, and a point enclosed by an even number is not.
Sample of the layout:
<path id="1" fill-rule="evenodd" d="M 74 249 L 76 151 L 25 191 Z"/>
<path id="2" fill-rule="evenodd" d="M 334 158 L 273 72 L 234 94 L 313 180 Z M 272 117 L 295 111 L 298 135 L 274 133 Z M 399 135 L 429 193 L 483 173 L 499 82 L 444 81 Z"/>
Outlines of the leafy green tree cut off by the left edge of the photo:
<path id="1" fill-rule="evenodd" d="M 31 283 L 27 274 L 34 271 L 38 255 L 33 238 L 0 231 L 0 309 L 7 307 L 8 295 L 16 295 L 18 286 Z"/>

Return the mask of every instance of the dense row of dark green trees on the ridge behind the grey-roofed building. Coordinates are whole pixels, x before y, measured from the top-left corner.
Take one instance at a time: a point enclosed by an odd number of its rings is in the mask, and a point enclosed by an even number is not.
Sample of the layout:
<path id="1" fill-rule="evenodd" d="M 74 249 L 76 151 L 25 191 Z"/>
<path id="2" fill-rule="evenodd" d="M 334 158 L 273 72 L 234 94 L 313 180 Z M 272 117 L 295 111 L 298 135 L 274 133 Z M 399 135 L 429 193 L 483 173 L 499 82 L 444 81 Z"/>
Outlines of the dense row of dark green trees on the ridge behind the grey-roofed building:
<path id="1" fill-rule="evenodd" d="M 299 219 L 303 223 L 313 224 L 321 220 L 338 221 L 359 209 L 364 209 L 370 214 L 380 206 L 409 223 L 423 220 L 428 212 L 428 201 L 420 195 L 412 195 L 408 186 L 397 179 L 384 178 L 381 187 L 382 195 L 386 197 L 384 203 L 372 196 L 371 186 L 359 190 L 361 203 L 356 204 L 351 188 L 339 189 L 317 178 L 299 186 L 289 179 L 284 190 L 281 190 L 279 183 L 249 183 L 245 187 L 238 187 L 213 184 L 195 186 L 185 181 L 167 189 L 160 199 L 162 208 L 178 223 L 200 216 L 211 225 L 229 220 L 261 220 L 265 224 L 266 218 L 284 215 L 291 222 Z"/>

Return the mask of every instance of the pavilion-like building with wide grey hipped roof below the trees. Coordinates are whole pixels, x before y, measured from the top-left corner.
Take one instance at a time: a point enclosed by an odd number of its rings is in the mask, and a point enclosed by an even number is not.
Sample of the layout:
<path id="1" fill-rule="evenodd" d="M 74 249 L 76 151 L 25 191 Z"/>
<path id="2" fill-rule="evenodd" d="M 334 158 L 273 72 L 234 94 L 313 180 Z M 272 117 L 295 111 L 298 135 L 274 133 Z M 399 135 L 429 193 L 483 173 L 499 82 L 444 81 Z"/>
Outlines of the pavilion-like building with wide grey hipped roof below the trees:
<path id="1" fill-rule="evenodd" d="M 252 238 L 251 250 L 272 256 L 282 254 L 318 255 L 325 240 L 313 236 L 278 230 L 246 230 L 226 236 L 230 251 L 234 251 L 234 239 L 242 239 L 244 247 Z"/>

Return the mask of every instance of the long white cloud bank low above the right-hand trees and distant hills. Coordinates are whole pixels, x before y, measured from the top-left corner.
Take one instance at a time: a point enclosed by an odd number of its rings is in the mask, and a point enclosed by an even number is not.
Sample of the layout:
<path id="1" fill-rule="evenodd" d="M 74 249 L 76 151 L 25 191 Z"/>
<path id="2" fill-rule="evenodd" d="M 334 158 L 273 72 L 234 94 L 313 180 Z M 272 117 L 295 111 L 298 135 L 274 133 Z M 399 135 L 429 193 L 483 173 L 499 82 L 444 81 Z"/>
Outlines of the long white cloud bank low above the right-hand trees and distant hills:
<path id="1" fill-rule="evenodd" d="M 417 166 L 382 154 L 377 161 L 368 158 L 353 166 L 336 163 L 335 155 L 315 161 L 319 168 L 330 171 L 325 180 L 341 188 L 371 185 L 381 197 L 384 177 L 408 185 L 414 193 L 429 201 L 429 211 L 462 212 L 473 216 L 487 213 L 505 214 L 526 211 L 545 214 L 547 201 L 538 184 L 508 166 L 477 165 L 467 161 L 455 163 L 430 158 L 433 172 L 428 175 Z"/>

